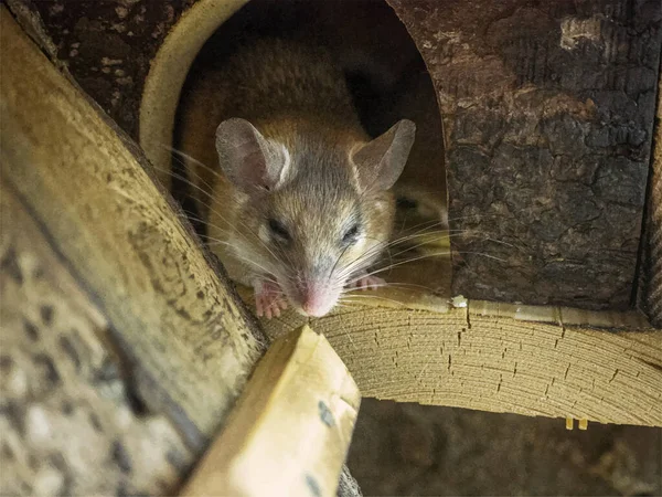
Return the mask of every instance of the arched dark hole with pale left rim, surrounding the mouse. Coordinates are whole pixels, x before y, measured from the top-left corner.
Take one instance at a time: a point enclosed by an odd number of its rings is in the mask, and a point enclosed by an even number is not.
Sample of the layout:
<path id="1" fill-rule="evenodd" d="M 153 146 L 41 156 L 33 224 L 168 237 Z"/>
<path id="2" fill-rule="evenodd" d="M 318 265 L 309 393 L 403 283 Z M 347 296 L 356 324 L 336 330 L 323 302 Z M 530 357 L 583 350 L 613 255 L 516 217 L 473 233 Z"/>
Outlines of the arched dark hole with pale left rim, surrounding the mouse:
<path id="1" fill-rule="evenodd" d="M 154 59 L 141 103 L 140 144 L 163 183 L 168 188 L 175 183 L 177 189 L 177 178 L 185 175 L 177 163 L 171 166 L 171 151 L 181 131 L 178 112 L 185 110 L 190 94 L 199 91 L 197 78 L 222 67 L 245 40 L 265 35 L 314 40 L 328 46 L 341 61 L 369 135 L 376 137 L 402 118 L 417 125 L 409 160 L 394 188 L 398 200 L 394 236 L 409 236 L 417 246 L 405 255 L 423 258 L 407 264 L 404 272 L 395 269 L 394 278 L 449 295 L 448 257 L 442 262 L 429 257 L 430 251 L 449 250 L 448 233 L 439 230 L 446 229 L 447 218 L 436 92 L 414 41 L 385 1 L 199 0 Z M 186 210 L 191 209 L 192 203 Z"/>

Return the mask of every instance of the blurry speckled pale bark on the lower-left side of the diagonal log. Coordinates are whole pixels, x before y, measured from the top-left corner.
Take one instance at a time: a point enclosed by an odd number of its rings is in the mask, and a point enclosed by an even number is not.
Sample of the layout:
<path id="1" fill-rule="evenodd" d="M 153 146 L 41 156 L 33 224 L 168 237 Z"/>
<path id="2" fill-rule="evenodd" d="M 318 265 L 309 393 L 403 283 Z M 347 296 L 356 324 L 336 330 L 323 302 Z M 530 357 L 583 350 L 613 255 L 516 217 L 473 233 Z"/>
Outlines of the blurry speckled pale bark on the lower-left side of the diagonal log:
<path id="1" fill-rule="evenodd" d="M 171 495 L 193 453 L 135 398 L 110 322 L 4 178 L 0 214 L 0 494 Z"/>

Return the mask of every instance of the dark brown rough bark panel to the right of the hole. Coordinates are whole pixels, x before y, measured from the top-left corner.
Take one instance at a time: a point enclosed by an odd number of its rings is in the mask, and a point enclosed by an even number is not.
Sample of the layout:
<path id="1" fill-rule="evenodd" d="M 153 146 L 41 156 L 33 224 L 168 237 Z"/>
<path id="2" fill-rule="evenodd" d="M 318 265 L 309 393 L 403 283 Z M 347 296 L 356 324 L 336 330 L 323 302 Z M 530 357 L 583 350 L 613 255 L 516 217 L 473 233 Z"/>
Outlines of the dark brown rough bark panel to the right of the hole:
<path id="1" fill-rule="evenodd" d="M 387 1 L 437 88 L 451 229 L 482 236 L 452 239 L 453 290 L 630 305 L 659 0 Z"/>

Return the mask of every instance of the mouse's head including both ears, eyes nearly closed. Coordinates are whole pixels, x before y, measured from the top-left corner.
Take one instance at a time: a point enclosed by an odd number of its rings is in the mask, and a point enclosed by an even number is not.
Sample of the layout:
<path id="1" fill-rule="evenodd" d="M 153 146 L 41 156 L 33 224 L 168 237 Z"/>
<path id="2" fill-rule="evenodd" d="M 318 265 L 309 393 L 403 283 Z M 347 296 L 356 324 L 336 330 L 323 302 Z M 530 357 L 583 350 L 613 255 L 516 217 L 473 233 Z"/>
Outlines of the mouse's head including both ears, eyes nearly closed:
<path id="1" fill-rule="evenodd" d="M 388 190 L 414 133 L 412 121 L 401 120 L 367 142 L 293 134 L 284 145 L 244 119 L 218 126 L 220 166 L 243 193 L 241 221 L 254 241 L 237 240 L 238 250 L 260 261 L 257 276 L 275 278 L 300 313 L 329 313 L 386 246 L 394 215 Z"/>

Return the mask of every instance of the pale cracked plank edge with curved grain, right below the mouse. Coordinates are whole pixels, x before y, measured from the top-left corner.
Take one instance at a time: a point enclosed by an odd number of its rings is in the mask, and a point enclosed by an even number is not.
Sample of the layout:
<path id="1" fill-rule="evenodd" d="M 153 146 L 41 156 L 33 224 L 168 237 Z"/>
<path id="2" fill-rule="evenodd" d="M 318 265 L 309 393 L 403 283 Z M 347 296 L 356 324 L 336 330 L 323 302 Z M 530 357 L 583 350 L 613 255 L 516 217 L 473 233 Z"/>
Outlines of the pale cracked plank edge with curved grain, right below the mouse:
<path id="1" fill-rule="evenodd" d="M 362 305 L 311 320 L 286 311 L 261 324 L 278 337 L 310 321 L 364 396 L 662 426 L 662 332 L 519 319 L 519 307 Z"/>

